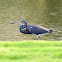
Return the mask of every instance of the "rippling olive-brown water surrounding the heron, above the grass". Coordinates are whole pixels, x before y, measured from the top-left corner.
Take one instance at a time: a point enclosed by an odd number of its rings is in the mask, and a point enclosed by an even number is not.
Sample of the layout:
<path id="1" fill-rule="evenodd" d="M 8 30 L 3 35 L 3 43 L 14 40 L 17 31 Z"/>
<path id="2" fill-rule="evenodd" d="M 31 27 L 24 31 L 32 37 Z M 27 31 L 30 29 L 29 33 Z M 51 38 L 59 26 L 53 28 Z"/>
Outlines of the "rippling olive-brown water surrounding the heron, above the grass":
<path id="1" fill-rule="evenodd" d="M 10 24 L 21 19 L 53 30 L 42 40 L 62 40 L 62 0 L 0 0 L 0 41 L 37 40 L 19 32 L 21 23 Z"/>

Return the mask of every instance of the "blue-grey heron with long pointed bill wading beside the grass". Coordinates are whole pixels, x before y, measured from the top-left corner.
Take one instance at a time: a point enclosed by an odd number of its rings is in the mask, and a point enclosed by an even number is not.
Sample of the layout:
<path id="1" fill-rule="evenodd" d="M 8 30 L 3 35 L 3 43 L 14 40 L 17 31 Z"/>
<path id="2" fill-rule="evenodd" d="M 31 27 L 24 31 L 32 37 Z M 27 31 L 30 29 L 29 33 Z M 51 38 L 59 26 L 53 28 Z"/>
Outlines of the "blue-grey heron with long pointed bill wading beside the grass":
<path id="1" fill-rule="evenodd" d="M 24 33 L 24 34 L 34 34 L 36 35 L 36 37 L 39 39 L 40 38 L 40 35 L 42 34 L 46 34 L 46 33 L 52 33 L 52 30 L 49 30 L 47 28 L 44 28 L 42 26 L 38 26 L 38 25 L 27 25 L 27 22 L 26 20 L 22 19 L 18 22 L 14 22 L 14 23 L 19 23 L 19 22 L 23 22 L 24 25 L 20 25 L 19 26 L 19 30 L 21 33 Z M 14 23 L 11 23 L 11 24 L 14 24 Z M 25 30 L 23 30 L 23 28 L 25 28 Z"/>

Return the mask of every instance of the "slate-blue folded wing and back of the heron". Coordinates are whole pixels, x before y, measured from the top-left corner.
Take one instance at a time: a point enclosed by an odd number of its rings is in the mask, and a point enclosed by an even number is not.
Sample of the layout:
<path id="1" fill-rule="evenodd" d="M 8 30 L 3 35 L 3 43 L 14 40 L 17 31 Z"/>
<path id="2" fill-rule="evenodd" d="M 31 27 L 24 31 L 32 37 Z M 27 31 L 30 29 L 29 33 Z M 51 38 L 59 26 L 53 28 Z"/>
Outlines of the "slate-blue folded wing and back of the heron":
<path id="1" fill-rule="evenodd" d="M 28 25 L 27 30 L 29 30 L 33 34 L 44 34 L 47 33 L 49 30 L 38 25 Z"/>

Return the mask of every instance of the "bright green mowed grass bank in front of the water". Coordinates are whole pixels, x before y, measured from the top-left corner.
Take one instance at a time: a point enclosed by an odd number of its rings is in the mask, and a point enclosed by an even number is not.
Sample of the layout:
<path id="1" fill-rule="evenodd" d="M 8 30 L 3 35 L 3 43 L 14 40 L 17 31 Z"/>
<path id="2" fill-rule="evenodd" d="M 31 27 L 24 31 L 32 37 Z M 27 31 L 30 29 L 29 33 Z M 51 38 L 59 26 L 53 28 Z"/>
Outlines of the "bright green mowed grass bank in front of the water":
<path id="1" fill-rule="evenodd" d="M 0 62 L 62 62 L 62 41 L 0 41 Z"/>

